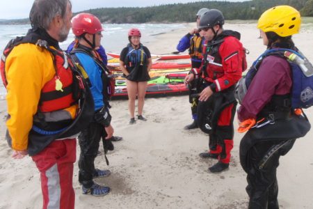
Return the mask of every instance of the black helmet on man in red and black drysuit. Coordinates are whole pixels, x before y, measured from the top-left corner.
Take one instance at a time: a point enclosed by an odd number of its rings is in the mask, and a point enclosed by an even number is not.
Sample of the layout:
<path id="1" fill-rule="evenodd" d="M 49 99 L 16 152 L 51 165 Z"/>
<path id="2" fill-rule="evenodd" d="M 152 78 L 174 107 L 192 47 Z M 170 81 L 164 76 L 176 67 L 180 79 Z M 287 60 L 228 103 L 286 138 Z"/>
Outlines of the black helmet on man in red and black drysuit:
<path id="1" fill-rule="evenodd" d="M 198 29 L 213 28 L 216 25 L 224 24 L 224 16 L 220 10 L 211 9 L 200 17 Z"/>

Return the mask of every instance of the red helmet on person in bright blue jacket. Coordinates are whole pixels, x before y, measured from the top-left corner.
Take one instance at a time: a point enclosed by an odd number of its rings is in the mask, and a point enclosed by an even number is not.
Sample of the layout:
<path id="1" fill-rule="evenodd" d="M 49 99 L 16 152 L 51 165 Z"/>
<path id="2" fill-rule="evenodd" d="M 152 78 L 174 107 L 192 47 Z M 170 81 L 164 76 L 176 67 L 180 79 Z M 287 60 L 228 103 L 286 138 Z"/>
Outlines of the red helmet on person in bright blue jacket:
<path id="1" fill-rule="evenodd" d="M 95 34 L 103 31 L 100 20 L 88 13 L 80 13 L 72 18 L 72 31 L 75 36 L 81 36 L 83 33 Z"/>

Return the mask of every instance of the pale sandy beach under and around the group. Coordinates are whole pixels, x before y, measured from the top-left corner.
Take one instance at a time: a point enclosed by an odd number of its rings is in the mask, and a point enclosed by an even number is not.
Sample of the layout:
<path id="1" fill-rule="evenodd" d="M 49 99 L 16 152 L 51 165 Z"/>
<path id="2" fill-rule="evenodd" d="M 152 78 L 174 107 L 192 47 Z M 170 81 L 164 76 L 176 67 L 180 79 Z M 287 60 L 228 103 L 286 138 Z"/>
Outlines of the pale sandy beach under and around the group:
<path id="1" fill-rule="evenodd" d="M 195 24 L 155 36 L 144 44 L 152 54 L 177 51 L 176 45 Z M 225 29 L 241 33 L 241 42 L 250 54 L 248 65 L 266 48 L 258 39 L 256 24 L 225 24 Z M 296 46 L 313 62 L 313 26 L 303 26 L 294 36 Z M 119 53 L 119 52 L 118 52 Z M 216 160 L 202 160 L 198 154 L 207 150 L 208 136 L 201 130 L 183 129 L 191 123 L 188 96 L 147 98 L 144 116 L 148 121 L 129 125 L 127 100 L 113 100 L 111 115 L 115 150 L 99 155 L 95 166 L 110 169 L 111 176 L 96 179 L 111 187 L 103 197 L 81 194 L 78 166 L 74 164 L 73 185 L 76 208 L 247 208 L 246 173 L 239 162 L 239 143 L 243 134 L 235 133 L 230 169 L 223 173 L 208 173 Z M 305 111 L 313 122 L 313 108 Z M 40 175 L 31 157 L 13 160 L 4 135 L 6 132 L 6 101 L 0 101 L 0 208 L 41 208 Z M 22 120 L 22 118 L 21 118 Z M 235 127 L 238 127 L 235 118 Z M 313 132 L 298 139 L 294 148 L 280 158 L 278 167 L 278 201 L 280 208 L 313 208 Z M 102 150 L 102 147 L 101 149 Z M 77 146 L 77 159 L 79 157 Z"/>

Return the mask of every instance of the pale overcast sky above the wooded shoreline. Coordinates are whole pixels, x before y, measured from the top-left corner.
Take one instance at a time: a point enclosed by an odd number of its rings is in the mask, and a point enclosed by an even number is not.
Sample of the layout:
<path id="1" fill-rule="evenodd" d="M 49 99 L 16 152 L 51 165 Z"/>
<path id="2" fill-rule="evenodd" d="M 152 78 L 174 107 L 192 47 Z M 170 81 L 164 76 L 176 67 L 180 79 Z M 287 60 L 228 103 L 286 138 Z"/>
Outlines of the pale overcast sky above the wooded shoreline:
<path id="1" fill-rule="evenodd" d="M 90 8 L 129 7 L 129 6 L 157 6 L 168 3 L 187 3 L 197 0 L 71 0 L 73 12 Z M 202 0 L 203 1 L 203 0 Z M 247 0 L 229 0 L 247 1 Z M 0 19 L 19 19 L 29 17 L 33 0 L 0 0 Z"/>

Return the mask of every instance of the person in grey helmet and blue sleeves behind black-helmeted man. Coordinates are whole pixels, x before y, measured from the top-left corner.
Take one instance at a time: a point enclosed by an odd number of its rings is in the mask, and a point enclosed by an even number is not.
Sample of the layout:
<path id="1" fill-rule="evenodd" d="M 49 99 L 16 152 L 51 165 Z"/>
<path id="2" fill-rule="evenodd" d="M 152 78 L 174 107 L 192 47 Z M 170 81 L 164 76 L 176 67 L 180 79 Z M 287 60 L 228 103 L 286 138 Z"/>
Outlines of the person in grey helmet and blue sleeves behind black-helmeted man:
<path id="1" fill-rule="evenodd" d="M 207 12 L 208 8 L 201 8 L 196 17 L 197 17 L 197 26 L 200 22 L 200 17 Z M 177 50 L 179 52 L 184 52 L 188 49 L 188 53 L 191 58 L 191 72 L 196 72 L 195 68 L 200 68 L 202 63 L 202 48 L 203 48 L 204 38 L 200 36 L 199 30 L 191 29 L 189 33 L 182 37 L 179 40 L 177 45 Z M 189 74 L 190 74 L 189 73 Z M 185 83 L 189 86 L 189 102 L 191 103 L 191 114 L 193 116 L 193 123 L 186 125 L 184 130 L 191 130 L 198 127 L 197 123 L 197 107 L 198 107 L 198 98 L 193 97 L 192 95 L 195 93 L 200 93 L 199 86 L 197 85 L 198 79 L 194 79 L 193 82 L 188 82 L 188 76 L 185 79 Z"/>

